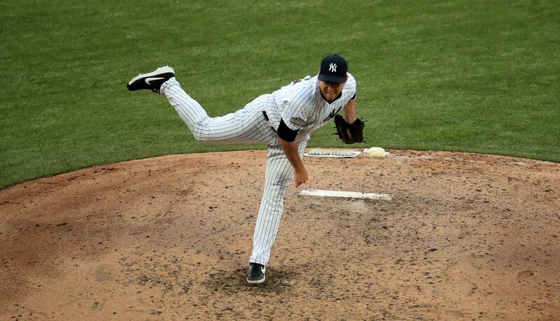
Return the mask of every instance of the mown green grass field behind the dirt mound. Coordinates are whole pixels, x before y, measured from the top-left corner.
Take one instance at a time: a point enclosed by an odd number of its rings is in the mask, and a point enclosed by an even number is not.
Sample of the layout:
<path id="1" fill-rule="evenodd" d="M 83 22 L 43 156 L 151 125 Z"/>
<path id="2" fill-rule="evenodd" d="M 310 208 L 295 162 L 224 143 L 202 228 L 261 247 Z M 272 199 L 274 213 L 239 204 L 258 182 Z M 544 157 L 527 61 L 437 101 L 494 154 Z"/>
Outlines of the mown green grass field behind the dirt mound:
<path id="1" fill-rule="evenodd" d="M 210 115 L 314 74 L 339 52 L 367 143 L 560 161 L 556 1 L 0 3 L 0 188 L 202 145 L 165 99 L 127 92 L 174 66 Z M 309 146 L 343 144 L 328 124 Z"/>

